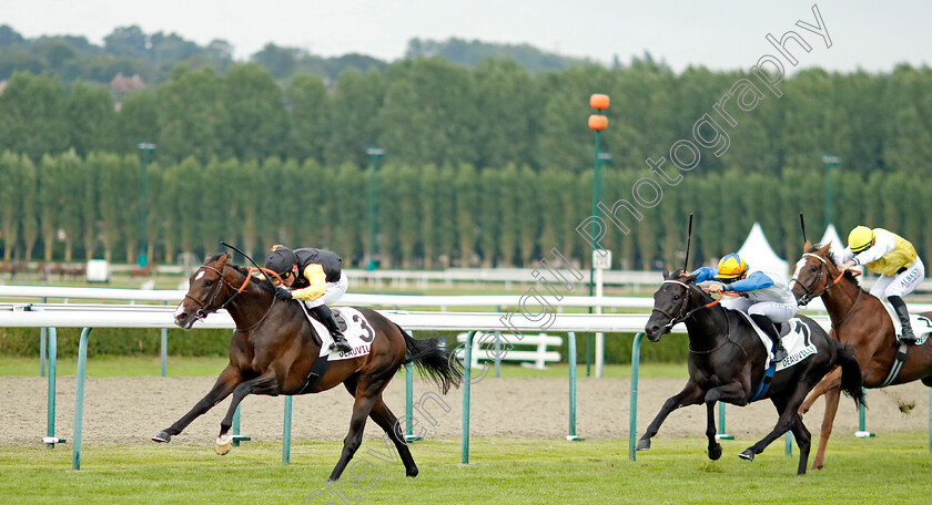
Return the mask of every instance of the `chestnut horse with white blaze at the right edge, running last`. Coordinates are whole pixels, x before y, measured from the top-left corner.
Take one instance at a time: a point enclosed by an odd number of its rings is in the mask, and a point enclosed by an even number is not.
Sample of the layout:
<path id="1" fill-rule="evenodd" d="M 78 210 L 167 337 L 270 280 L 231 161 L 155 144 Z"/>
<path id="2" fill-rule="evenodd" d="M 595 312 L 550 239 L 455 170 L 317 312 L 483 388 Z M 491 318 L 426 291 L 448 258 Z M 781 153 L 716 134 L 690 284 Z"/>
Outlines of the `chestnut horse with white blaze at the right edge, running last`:
<path id="1" fill-rule="evenodd" d="M 922 346 L 909 347 L 899 374 L 889 377 L 899 348 L 893 321 L 883 303 L 862 290 L 850 271 L 841 276 L 829 255 L 829 247 L 806 243 L 793 275 L 793 295 L 801 305 L 822 297 L 832 318 L 831 334 L 854 350 L 854 358 L 864 372 L 864 388 L 904 384 L 918 379 L 932 387 L 932 339 Z M 923 316 L 932 318 L 932 312 Z M 825 446 L 838 412 L 838 384 L 839 372 L 830 372 L 800 406 L 800 412 L 806 413 L 821 394 L 825 395 L 825 414 L 812 468 L 821 468 L 824 463 Z"/>

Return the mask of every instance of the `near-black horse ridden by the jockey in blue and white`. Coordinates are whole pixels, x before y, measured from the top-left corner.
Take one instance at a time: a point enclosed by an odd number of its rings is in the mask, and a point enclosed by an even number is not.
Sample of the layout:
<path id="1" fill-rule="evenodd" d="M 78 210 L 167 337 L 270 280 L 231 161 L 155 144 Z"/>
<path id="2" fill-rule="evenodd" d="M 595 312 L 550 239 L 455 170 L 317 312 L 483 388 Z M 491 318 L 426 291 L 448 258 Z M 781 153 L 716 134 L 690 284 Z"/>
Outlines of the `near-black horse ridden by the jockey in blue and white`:
<path id="1" fill-rule="evenodd" d="M 680 406 L 705 403 L 709 458 L 718 460 L 721 457 L 721 445 L 716 440 L 716 402 L 750 403 L 763 380 L 768 351 L 743 316 L 716 305 L 696 286 L 693 277 L 680 277 L 680 274 L 681 270 L 663 275 L 663 284 L 654 293 L 654 312 L 644 331 L 651 342 L 657 342 L 676 323 L 686 322 L 689 332 L 689 381 L 682 391 L 663 403 L 638 441 L 638 450 L 650 449 L 650 439 L 670 412 Z M 753 460 L 754 454 L 760 454 L 771 442 L 792 430 L 800 452 L 798 473 L 804 474 L 811 435 L 797 410 L 806 394 L 829 370 L 840 365 L 841 388 L 858 404 L 863 401 L 863 395 L 861 371 L 852 352 L 830 339 L 811 319 L 800 319 L 809 327 L 811 342 L 818 352 L 773 374 L 763 398 L 773 402 L 780 419 L 773 431 L 741 452 L 740 456 Z"/>

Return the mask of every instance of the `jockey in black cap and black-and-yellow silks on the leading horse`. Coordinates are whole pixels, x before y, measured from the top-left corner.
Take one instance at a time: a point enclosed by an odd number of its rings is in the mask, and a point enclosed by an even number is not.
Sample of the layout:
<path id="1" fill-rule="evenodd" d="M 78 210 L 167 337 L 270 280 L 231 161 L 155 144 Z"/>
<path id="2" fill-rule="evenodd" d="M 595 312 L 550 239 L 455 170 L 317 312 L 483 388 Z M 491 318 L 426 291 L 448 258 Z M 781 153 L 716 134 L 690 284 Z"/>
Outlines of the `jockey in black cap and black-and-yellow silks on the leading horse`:
<path id="1" fill-rule="evenodd" d="M 330 303 L 346 293 L 348 281 L 343 272 L 343 259 L 324 249 L 288 249 L 282 245 L 272 246 L 265 256 L 265 268 L 282 278 L 285 287 L 278 286 L 275 296 L 282 300 L 300 300 L 333 336 L 331 351 L 348 352 L 350 343 L 333 319 Z"/>

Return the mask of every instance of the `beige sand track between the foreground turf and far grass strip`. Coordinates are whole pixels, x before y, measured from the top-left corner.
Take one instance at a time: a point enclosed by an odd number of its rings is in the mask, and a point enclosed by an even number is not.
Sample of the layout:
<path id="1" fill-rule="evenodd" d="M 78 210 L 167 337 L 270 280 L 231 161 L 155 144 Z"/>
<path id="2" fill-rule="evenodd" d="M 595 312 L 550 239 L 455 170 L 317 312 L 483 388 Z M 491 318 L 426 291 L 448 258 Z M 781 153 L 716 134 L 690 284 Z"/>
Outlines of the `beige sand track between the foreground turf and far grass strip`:
<path id="1" fill-rule="evenodd" d="M 213 378 L 89 378 L 85 384 L 84 443 L 144 444 L 149 437 L 168 427 L 213 384 Z M 657 414 L 663 401 L 679 392 L 685 379 L 641 379 L 638 387 L 638 433 Z M 74 377 L 58 380 L 58 436 L 72 439 L 74 419 Z M 577 434 L 587 439 L 628 437 L 630 380 L 582 378 L 577 388 Z M 47 379 L 40 377 L 0 377 L 0 445 L 38 444 L 45 434 Z M 415 400 L 432 383 L 415 380 Z M 472 388 L 470 434 L 475 437 L 563 439 L 568 426 L 567 379 L 495 379 L 485 378 Z M 405 410 L 404 378 L 389 384 L 385 400 L 396 415 Z M 462 432 L 462 390 L 453 390 L 444 405 L 430 404 L 428 420 L 415 411 L 425 427 L 425 439 L 455 440 Z M 909 414 L 898 403 L 915 402 Z M 213 445 L 220 421 L 230 400 L 194 421 L 172 443 Z M 247 396 L 242 404 L 242 433 L 256 441 L 282 439 L 283 398 Z M 343 388 L 297 396 L 294 401 L 292 436 L 295 440 L 340 441 L 346 435 L 352 398 Z M 920 382 L 868 391 L 867 427 L 878 434 L 892 431 L 925 431 L 929 425 L 929 392 Z M 813 433 L 819 433 L 823 402 L 803 418 Z M 727 408 L 727 432 L 738 439 L 764 435 L 777 422 L 770 402 L 750 406 Z M 858 429 L 854 403 L 842 398 L 834 433 L 852 433 Z M 705 408 L 690 406 L 675 411 L 657 435 L 663 437 L 701 437 L 705 433 Z M 367 437 L 381 436 L 375 423 L 366 425 Z"/>

